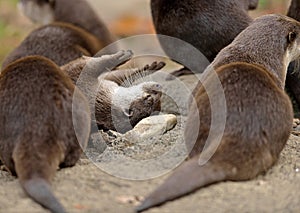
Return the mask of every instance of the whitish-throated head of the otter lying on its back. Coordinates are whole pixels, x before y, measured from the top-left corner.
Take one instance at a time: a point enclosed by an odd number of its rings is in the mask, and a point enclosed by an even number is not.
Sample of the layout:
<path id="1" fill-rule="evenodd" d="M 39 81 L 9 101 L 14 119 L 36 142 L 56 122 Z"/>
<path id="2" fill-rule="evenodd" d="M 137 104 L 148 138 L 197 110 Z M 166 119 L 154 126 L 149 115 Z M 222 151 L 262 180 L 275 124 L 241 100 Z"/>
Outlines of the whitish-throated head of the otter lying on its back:
<path id="1" fill-rule="evenodd" d="M 140 120 L 160 111 L 162 86 L 144 82 L 128 88 L 118 87 L 112 95 L 112 123 L 118 132 L 132 129 Z"/>

